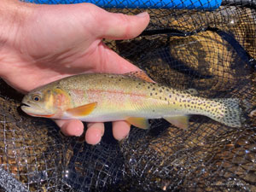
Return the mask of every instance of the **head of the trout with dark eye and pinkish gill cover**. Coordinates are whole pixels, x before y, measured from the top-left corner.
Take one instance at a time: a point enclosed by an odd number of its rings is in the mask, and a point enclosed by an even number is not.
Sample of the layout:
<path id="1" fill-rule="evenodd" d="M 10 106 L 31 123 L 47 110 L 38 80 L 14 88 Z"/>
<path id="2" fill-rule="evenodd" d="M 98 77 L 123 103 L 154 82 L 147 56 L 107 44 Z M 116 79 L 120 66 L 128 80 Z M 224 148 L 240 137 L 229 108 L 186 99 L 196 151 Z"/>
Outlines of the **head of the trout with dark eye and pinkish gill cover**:
<path id="1" fill-rule="evenodd" d="M 24 96 L 21 109 L 32 116 L 60 119 L 67 99 L 66 92 L 58 87 L 36 89 Z"/>

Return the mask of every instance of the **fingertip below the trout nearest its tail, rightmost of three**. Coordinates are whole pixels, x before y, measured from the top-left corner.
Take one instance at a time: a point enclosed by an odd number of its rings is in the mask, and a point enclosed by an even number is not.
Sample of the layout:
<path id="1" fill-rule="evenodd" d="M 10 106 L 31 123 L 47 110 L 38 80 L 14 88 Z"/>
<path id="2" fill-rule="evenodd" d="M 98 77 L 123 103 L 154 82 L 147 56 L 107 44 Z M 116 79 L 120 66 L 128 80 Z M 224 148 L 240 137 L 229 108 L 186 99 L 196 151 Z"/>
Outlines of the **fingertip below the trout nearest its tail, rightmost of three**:
<path id="1" fill-rule="evenodd" d="M 113 122 L 113 137 L 117 140 L 122 140 L 128 136 L 131 129 L 131 125 L 126 121 L 114 121 Z"/>

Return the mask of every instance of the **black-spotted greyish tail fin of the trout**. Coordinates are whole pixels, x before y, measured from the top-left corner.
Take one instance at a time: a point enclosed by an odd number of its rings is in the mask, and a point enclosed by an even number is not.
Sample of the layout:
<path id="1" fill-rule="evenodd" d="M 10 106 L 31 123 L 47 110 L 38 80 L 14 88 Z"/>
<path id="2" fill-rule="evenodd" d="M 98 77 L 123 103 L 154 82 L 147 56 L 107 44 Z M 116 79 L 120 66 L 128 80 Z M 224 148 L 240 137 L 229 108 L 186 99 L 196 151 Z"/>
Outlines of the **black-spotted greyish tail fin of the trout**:
<path id="1" fill-rule="evenodd" d="M 218 112 L 213 112 L 210 116 L 211 119 L 230 127 L 241 127 L 245 118 L 239 99 L 213 99 L 213 101 L 218 102 Z"/>

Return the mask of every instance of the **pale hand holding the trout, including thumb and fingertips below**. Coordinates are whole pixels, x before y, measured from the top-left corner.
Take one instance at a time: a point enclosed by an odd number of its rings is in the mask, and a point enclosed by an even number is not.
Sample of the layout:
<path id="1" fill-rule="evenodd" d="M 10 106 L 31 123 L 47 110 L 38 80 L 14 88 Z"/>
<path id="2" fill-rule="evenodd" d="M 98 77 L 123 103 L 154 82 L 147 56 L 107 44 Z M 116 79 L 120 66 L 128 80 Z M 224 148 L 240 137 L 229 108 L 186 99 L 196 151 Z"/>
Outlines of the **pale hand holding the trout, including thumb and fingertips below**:
<path id="1" fill-rule="evenodd" d="M 16 0 L 0 4 L 0 77 L 22 93 L 78 73 L 128 73 L 139 70 L 102 43 L 102 38 L 135 38 L 149 16 L 108 13 L 90 3 L 36 5 Z M 80 136 L 78 119 L 55 120 L 67 136 Z M 96 144 L 103 123 L 88 123 L 85 141 Z M 129 134 L 125 121 L 113 122 L 113 137 Z"/>

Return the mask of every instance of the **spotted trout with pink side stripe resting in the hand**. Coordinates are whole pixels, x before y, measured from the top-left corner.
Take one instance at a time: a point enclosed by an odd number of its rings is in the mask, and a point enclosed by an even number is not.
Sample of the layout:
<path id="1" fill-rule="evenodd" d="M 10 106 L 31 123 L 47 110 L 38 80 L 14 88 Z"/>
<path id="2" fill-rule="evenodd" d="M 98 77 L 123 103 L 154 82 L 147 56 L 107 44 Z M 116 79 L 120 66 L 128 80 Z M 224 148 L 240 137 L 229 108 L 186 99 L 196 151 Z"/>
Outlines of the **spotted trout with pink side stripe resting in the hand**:
<path id="1" fill-rule="evenodd" d="M 157 84 L 143 72 L 87 73 L 32 90 L 24 96 L 21 109 L 29 115 L 51 119 L 125 120 L 143 129 L 148 128 L 148 119 L 161 118 L 187 129 L 192 114 L 241 127 L 239 99 L 207 99 L 196 92 Z"/>

